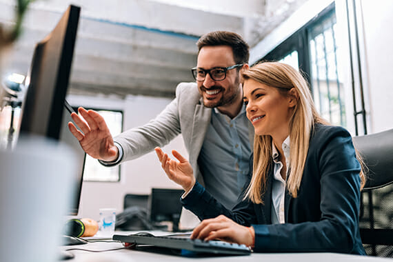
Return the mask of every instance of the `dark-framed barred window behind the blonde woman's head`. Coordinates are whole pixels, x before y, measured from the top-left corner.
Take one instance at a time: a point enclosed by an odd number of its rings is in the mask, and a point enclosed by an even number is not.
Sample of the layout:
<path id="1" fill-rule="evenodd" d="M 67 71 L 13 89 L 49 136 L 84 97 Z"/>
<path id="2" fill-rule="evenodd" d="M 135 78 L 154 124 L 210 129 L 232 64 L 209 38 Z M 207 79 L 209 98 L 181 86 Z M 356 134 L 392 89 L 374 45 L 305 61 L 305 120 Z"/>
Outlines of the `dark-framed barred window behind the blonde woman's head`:
<path id="1" fill-rule="evenodd" d="M 346 127 L 342 68 L 336 41 L 334 3 L 292 34 L 261 61 L 281 61 L 301 70 L 310 83 L 316 110 L 333 125 Z"/>

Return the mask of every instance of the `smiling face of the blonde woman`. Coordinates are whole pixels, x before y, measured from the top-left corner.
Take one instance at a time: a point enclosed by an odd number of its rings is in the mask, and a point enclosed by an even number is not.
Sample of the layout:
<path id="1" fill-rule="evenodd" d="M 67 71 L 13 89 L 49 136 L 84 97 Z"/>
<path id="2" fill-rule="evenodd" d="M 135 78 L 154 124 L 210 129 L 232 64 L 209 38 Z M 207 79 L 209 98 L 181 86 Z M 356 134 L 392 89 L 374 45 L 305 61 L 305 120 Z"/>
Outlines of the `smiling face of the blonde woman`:
<path id="1" fill-rule="evenodd" d="M 252 79 L 245 80 L 243 96 L 255 134 L 282 140 L 288 137 L 289 119 L 296 103 L 294 97 L 284 97 L 277 88 Z"/>

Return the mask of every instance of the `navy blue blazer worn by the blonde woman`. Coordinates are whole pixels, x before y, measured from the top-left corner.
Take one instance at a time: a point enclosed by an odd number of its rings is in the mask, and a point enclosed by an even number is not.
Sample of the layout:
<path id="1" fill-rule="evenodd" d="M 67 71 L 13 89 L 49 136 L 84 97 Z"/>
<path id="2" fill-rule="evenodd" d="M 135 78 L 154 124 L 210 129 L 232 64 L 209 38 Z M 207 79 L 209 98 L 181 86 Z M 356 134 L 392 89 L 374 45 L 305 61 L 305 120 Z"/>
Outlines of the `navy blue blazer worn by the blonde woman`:
<path id="1" fill-rule="evenodd" d="M 248 187 L 250 174 L 244 188 Z M 365 254 L 359 232 L 361 166 L 352 137 L 341 127 L 316 124 L 298 196 L 285 192 L 285 223 L 272 224 L 269 171 L 263 204 L 239 196 L 232 210 L 218 203 L 199 183 L 181 199 L 184 207 L 208 219 L 223 214 L 255 230 L 255 252 L 342 252 Z"/>

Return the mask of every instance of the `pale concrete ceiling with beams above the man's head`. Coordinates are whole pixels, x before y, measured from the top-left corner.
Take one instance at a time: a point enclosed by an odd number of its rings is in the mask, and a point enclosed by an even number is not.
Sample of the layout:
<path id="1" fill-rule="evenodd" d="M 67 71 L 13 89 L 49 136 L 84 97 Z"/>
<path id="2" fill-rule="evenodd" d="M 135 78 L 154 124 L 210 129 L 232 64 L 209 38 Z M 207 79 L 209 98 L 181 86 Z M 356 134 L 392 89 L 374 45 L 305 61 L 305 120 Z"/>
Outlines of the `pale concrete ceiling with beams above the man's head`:
<path id="1" fill-rule="evenodd" d="M 0 23 L 14 21 L 13 0 L 0 0 Z M 34 45 L 56 26 L 70 3 L 30 4 L 23 34 L 3 72 L 26 74 Z M 192 3 L 197 2 L 197 3 Z M 173 97 L 177 83 L 193 81 L 196 41 L 212 30 L 241 34 L 256 45 L 305 0 L 79 0 L 81 19 L 70 94 L 143 94 Z"/>

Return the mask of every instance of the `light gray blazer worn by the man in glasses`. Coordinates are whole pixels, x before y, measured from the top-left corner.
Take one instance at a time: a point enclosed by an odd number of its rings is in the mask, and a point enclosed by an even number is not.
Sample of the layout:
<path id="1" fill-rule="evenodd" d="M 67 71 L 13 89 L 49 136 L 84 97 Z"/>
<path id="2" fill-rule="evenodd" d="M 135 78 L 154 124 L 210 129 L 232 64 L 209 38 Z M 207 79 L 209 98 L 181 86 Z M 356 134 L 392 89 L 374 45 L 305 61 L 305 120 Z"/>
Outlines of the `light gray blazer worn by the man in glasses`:
<path id="1" fill-rule="evenodd" d="M 182 134 L 196 180 L 204 185 L 197 160 L 211 117 L 212 108 L 203 105 L 196 83 L 179 83 L 176 98 L 155 119 L 114 138 L 123 148 L 121 162 L 137 159 Z M 249 130 L 250 143 L 253 144 L 254 128 L 251 123 Z"/>

